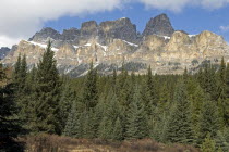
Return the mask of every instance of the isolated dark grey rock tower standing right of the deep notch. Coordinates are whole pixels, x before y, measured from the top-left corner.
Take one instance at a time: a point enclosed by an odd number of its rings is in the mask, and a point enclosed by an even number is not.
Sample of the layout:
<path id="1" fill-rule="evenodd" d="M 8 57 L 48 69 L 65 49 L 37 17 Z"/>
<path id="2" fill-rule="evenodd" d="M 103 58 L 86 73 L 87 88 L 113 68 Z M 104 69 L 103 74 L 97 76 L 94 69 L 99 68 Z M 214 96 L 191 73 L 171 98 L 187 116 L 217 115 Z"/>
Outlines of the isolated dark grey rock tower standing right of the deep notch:
<path id="1" fill-rule="evenodd" d="M 171 36 L 174 29 L 170 23 L 169 17 L 166 14 L 160 14 L 156 17 L 152 17 L 146 24 L 143 36 L 159 35 L 159 36 Z"/>

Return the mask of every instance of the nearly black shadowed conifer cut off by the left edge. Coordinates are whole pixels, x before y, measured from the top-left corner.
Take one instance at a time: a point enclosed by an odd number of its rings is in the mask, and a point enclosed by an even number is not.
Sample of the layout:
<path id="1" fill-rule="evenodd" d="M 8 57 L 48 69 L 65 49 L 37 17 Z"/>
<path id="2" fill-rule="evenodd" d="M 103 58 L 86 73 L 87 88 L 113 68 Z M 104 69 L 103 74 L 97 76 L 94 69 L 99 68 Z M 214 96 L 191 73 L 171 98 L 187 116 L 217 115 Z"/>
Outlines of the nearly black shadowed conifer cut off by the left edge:
<path id="1" fill-rule="evenodd" d="M 19 119 L 13 117 L 17 113 L 14 102 L 13 85 L 7 84 L 5 69 L 0 64 L 0 151 L 22 151 L 21 145 L 14 141 L 20 135 L 21 126 L 19 126 Z"/>

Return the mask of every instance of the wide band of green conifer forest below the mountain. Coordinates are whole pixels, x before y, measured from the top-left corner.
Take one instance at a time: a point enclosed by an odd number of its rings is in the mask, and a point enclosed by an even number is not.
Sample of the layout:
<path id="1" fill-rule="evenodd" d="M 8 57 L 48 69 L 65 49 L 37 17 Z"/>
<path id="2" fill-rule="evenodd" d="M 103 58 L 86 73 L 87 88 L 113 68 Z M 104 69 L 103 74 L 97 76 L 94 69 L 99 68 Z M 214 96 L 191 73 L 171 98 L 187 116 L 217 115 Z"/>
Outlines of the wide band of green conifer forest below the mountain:
<path id="1" fill-rule="evenodd" d="M 5 79 L 0 66 L 0 80 Z M 1 85 L 0 145 L 40 132 L 73 138 L 192 144 L 203 152 L 229 150 L 229 66 L 206 64 L 190 75 L 145 75 L 113 71 L 60 75 L 49 42 L 27 69 L 20 55 L 12 78 Z"/>

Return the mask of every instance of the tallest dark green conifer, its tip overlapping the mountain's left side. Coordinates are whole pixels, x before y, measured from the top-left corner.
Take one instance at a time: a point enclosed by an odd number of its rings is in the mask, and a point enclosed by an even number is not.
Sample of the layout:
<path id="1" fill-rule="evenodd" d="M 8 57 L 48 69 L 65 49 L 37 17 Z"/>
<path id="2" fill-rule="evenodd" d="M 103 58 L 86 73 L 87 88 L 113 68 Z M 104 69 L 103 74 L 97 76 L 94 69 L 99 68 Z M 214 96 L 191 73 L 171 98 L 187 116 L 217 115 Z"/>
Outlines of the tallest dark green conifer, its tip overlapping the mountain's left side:
<path id="1" fill-rule="evenodd" d="M 51 42 L 37 65 L 34 110 L 31 128 L 33 132 L 60 134 L 59 94 L 60 79 L 56 67 Z"/>

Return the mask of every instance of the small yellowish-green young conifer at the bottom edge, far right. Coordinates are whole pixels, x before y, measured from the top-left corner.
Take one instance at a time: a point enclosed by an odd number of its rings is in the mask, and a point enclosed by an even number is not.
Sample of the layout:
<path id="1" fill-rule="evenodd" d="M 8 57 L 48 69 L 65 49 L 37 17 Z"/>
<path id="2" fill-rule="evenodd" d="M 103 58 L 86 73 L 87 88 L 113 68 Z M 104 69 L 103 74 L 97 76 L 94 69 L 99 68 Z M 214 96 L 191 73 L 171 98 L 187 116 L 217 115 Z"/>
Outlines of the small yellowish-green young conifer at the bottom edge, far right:
<path id="1" fill-rule="evenodd" d="M 201 145 L 202 152 L 215 152 L 215 141 L 210 138 L 210 135 L 208 134 L 206 138 L 204 139 L 203 144 Z"/>

